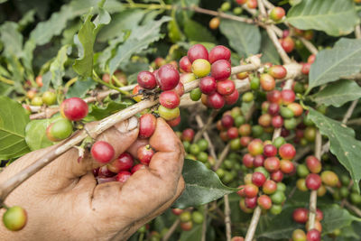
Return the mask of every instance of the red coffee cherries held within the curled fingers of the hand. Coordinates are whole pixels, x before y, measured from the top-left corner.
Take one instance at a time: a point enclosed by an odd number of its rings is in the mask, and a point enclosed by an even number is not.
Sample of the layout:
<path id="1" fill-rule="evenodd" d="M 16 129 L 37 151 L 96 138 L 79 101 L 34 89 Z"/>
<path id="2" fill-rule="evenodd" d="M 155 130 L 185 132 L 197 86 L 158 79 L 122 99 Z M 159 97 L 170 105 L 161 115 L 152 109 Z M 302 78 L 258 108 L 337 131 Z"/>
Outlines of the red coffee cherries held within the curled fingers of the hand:
<path id="1" fill-rule="evenodd" d="M 143 114 L 139 119 L 139 138 L 150 138 L 156 128 L 156 117 L 150 113 Z M 93 170 L 94 176 L 98 183 L 107 181 L 125 182 L 135 171 L 139 171 L 152 160 L 155 153 L 150 144 L 144 144 L 137 150 L 136 160 L 130 153 L 121 153 L 116 160 L 114 160 L 114 147 L 104 141 L 97 141 L 92 145 L 90 153 L 92 157 L 103 166 Z"/>

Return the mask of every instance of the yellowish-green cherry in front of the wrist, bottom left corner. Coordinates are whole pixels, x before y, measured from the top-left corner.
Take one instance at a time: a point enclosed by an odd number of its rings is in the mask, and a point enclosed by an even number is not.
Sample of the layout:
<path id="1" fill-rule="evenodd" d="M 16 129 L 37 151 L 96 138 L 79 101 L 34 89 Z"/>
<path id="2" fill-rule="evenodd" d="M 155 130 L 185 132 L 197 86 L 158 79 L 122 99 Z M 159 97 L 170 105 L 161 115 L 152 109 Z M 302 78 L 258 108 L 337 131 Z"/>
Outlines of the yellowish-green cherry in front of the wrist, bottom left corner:
<path id="1" fill-rule="evenodd" d="M 7 209 L 3 215 L 3 223 L 5 227 L 11 231 L 19 231 L 25 227 L 27 214 L 25 209 L 14 206 Z"/>

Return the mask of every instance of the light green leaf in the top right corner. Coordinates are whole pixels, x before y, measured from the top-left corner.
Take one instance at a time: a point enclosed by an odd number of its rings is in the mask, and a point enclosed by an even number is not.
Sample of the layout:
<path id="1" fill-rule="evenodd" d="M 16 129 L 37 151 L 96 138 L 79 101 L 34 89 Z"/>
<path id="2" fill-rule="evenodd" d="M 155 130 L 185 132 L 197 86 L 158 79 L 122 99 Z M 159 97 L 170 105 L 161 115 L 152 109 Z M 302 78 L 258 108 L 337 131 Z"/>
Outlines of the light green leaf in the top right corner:
<path id="1" fill-rule="evenodd" d="M 346 35 L 359 23 L 351 0 L 303 0 L 288 11 L 287 21 L 296 28 L 324 31 L 331 36 Z"/>

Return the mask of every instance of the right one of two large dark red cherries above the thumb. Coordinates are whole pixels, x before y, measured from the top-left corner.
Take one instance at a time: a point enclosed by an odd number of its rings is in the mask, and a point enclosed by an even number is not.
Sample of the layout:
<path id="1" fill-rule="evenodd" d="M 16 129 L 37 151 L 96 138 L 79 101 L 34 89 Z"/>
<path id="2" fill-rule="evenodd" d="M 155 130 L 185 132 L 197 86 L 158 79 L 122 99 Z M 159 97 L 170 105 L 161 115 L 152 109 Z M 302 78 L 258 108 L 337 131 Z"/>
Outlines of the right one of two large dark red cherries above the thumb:
<path id="1" fill-rule="evenodd" d="M 171 64 L 163 65 L 155 75 L 159 87 L 164 90 L 171 90 L 178 85 L 180 73 Z"/>

